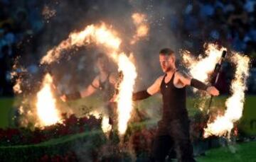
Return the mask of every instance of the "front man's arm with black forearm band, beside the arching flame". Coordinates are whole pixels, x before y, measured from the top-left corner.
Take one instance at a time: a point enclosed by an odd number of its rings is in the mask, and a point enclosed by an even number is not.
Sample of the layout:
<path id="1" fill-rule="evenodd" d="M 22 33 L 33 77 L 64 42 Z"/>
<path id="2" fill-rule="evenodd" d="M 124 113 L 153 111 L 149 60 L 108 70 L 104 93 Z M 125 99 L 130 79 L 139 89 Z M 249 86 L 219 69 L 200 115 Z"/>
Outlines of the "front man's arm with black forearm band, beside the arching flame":
<path id="1" fill-rule="evenodd" d="M 132 100 L 144 100 L 144 99 L 149 98 L 150 96 L 153 96 L 154 94 L 158 93 L 160 91 L 160 85 L 161 85 L 161 80 L 162 79 L 163 79 L 163 76 L 160 76 L 146 90 L 139 91 L 137 93 L 133 93 L 132 94 Z"/>

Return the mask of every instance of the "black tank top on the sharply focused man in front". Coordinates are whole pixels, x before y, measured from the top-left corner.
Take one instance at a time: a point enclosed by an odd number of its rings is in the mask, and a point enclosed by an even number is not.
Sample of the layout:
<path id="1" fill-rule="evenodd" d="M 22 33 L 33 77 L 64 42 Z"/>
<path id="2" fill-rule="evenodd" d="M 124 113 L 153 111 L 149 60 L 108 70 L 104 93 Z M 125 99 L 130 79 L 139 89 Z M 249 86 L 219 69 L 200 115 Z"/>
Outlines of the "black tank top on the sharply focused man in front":
<path id="1" fill-rule="evenodd" d="M 174 73 L 175 74 L 175 73 Z M 176 119 L 187 119 L 186 110 L 186 87 L 176 88 L 174 86 L 174 74 L 168 83 L 161 81 L 161 94 L 163 98 L 163 121 Z"/>

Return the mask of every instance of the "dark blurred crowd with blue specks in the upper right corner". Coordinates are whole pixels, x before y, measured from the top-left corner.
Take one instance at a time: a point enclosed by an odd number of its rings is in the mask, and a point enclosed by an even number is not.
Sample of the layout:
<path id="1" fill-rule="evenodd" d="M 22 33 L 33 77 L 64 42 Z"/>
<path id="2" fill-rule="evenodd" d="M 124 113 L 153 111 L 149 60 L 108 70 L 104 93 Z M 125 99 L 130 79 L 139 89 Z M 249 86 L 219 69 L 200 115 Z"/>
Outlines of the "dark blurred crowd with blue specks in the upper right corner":
<path id="1" fill-rule="evenodd" d="M 185 47 L 199 49 L 211 41 L 256 58 L 255 0 L 187 1 L 171 18 L 176 37 Z"/>

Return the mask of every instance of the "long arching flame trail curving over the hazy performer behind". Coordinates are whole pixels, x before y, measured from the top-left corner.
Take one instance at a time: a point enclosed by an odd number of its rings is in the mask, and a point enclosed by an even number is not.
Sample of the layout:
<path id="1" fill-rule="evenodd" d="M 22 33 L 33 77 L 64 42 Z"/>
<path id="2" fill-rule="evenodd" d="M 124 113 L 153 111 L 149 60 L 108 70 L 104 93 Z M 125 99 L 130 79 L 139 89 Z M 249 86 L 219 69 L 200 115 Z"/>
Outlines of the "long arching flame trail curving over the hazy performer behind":
<path id="1" fill-rule="evenodd" d="M 79 47 L 90 43 L 106 47 L 108 56 L 114 62 L 117 62 L 119 71 L 122 71 L 124 74 L 124 79 L 119 86 L 119 95 L 117 96 L 117 111 L 119 114 L 118 129 L 120 134 L 124 134 L 127 129 L 130 112 L 132 111 L 132 90 L 137 73 L 134 64 L 132 64 L 126 54 L 119 52 L 121 39 L 116 36 L 114 30 L 107 28 L 107 25 L 102 23 L 99 26 L 88 25 L 80 32 L 70 33 L 67 40 L 63 40 L 57 47 L 47 52 L 46 56 L 41 59 L 41 64 L 55 62 L 60 58 L 63 50 L 70 50 L 73 46 Z M 106 119 L 104 118 L 102 121 L 104 121 L 102 125 L 106 125 Z"/>

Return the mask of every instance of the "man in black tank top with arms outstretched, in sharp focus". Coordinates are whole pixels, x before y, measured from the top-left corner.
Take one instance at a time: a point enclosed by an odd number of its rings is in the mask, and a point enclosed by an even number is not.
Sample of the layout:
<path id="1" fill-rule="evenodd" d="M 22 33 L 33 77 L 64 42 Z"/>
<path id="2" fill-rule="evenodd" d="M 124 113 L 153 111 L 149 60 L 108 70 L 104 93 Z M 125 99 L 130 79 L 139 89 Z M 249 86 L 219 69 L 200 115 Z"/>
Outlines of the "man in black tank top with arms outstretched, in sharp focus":
<path id="1" fill-rule="evenodd" d="M 186 110 L 186 86 L 193 86 L 210 95 L 218 96 L 218 90 L 213 86 L 181 74 L 175 66 L 174 51 L 165 48 L 159 52 L 161 69 L 165 75 L 160 76 L 145 91 L 133 94 L 133 100 L 143 100 L 160 92 L 163 100 L 163 115 L 159 121 L 152 148 L 154 161 L 165 161 L 172 146 L 174 146 L 178 161 L 195 161 L 193 147 L 189 139 L 189 121 Z"/>

